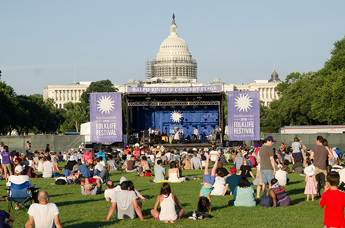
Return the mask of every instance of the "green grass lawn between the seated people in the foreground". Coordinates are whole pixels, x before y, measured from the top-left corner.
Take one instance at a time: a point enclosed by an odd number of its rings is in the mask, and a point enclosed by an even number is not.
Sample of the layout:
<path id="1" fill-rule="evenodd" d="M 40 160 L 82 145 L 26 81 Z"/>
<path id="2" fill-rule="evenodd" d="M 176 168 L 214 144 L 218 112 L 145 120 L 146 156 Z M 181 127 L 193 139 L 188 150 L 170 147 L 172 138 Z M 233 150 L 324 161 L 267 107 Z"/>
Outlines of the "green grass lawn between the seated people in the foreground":
<path id="1" fill-rule="evenodd" d="M 60 163 L 62 168 L 66 163 Z M 228 168 L 229 165 L 225 165 Z M 291 167 L 290 167 L 291 169 Z M 253 169 L 255 174 L 256 170 Z M 62 173 L 62 172 L 60 172 Z M 236 207 L 229 206 L 228 201 L 232 199 L 232 195 L 214 196 L 211 195 L 212 212 L 211 219 L 204 220 L 187 220 L 192 216 L 197 207 L 199 191 L 203 182 L 202 170 L 183 170 L 183 176 L 197 176 L 200 180 L 192 180 L 182 183 L 170 183 L 172 192 L 177 196 L 185 209 L 183 218 L 174 224 L 164 224 L 161 221 L 155 221 L 150 214 L 156 202 L 156 197 L 160 192 L 160 183 L 148 183 L 152 177 L 138 177 L 137 173 L 127 173 L 114 171 L 110 172 L 110 180 L 115 184 L 119 183 L 120 177 L 125 176 L 128 180 L 134 182 L 134 186 L 142 195 L 149 195 L 150 200 L 143 201 L 142 212 L 148 221 L 140 221 L 136 218 L 133 220 L 117 220 L 112 217 L 110 221 L 103 221 L 106 218 L 110 202 L 106 202 L 104 194 L 89 196 L 81 195 L 79 185 L 51 185 L 55 183 L 54 179 L 32 179 L 32 185 L 36 184 L 40 190 L 49 193 L 49 202 L 55 203 L 60 210 L 60 220 L 64 228 L 133 228 L 133 227 L 322 227 L 323 208 L 319 208 L 320 199 L 315 201 L 306 201 L 304 195 L 305 177 L 299 174 L 288 174 L 290 184 L 285 186 L 287 195 L 289 195 L 293 203 L 301 203 L 297 206 L 263 208 L 256 207 Z M 253 181 L 253 178 L 249 178 Z M 7 195 L 6 181 L 0 181 L 1 195 Z M 256 190 L 256 186 L 253 186 Z M 106 186 L 103 186 L 106 189 Z M 8 203 L 0 202 L 0 208 L 8 211 Z M 176 207 L 177 208 L 177 207 Z M 15 219 L 14 228 L 23 228 L 28 220 L 28 214 L 22 210 L 10 213 Z"/>

